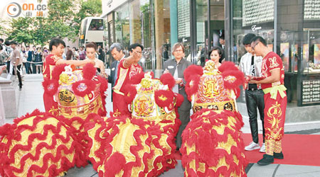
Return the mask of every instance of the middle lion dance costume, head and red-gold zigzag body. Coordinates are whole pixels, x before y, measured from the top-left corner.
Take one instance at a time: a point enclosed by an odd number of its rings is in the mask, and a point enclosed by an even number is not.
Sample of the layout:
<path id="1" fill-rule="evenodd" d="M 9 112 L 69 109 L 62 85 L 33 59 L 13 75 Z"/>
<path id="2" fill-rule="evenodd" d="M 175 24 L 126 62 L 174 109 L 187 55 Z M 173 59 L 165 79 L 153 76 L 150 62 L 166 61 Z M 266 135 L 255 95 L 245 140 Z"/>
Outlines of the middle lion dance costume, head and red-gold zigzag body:
<path id="1" fill-rule="evenodd" d="M 165 81 L 166 85 L 150 74 L 138 80 L 141 83 L 125 89 L 132 117 L 94 118 L 85 123 L 90 137 L 87 154 L 99 176 L 159 176 L 176 166 L 178 96 Z M 170 102 L 161 104 L 156 96 Z"/>

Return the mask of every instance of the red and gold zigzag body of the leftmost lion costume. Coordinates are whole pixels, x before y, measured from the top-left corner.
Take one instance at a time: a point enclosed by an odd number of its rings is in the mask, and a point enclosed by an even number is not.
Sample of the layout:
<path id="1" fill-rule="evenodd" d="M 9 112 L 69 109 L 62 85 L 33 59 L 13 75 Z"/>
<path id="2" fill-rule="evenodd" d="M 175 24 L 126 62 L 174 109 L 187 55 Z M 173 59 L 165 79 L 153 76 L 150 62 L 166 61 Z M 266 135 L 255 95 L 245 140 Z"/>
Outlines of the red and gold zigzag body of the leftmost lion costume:
<path id="1" fill-rule="evenodd" d="M 59 118 L 33 111 L 0 127 L 1 176 L 63 176 L 85 166 L 75 130 Z"/>

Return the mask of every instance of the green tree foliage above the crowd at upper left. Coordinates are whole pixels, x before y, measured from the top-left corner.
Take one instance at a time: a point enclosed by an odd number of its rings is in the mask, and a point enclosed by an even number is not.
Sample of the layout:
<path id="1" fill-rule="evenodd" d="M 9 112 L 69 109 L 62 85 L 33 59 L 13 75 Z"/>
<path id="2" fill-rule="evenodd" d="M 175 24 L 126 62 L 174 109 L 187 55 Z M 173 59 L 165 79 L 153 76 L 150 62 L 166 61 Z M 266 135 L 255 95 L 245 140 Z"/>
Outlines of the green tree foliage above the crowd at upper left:
<path id="1" fill-rule="evenodd" d="M 4 29 L 9 40 L 46 45 L 53 37 L 76 40 L 80 23 L 87 16 L 100 16 L 101 0 L 49 0 L 48 16 L 11 18 L 11 28 Z"/>

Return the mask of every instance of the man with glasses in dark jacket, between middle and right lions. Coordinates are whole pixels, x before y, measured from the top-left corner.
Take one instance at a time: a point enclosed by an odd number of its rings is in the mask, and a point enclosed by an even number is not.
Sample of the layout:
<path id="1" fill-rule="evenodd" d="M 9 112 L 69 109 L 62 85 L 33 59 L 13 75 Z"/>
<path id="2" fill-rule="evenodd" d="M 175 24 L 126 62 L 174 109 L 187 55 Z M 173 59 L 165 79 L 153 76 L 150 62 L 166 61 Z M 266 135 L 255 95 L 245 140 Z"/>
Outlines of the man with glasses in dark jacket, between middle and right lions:
<path id="1" fill-rule="evenodd" d="M 181 120 L 181 125 L 178 130 L 178 134 L 176 135 L 176 148 L 180 149 L 182 144 L 181 134 L 182 131 L 190 122 L 190 110 L 191 103 L 188 101 L 188 96 L 186 95 L 186 91 L 184 90 L 184 85 L 186 81 L 183 79 L 184 70 L 189 67 L 192 63 L 188 62 L 188 60 L 184 59 L 184 47 L 182 43 L 176 43 L 174 47 L 172 47 L 172 55 L 174 55 L 174 59 L 169 59 L 164 62 L 164 74 L 170 73 L 174 76 L 176 80 L 176 85 L 172 89 L 175 93 L 180 93 L 184 100 L 181 106 L 178 108 L 179 119 Z"/>

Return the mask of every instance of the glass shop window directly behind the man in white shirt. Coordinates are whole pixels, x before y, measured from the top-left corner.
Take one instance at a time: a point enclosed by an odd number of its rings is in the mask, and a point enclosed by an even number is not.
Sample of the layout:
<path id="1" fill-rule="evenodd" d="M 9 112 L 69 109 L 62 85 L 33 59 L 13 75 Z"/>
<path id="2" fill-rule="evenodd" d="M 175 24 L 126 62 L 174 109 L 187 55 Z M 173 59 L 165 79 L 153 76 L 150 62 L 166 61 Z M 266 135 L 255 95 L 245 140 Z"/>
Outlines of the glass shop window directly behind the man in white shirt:
<path id="1" fill-rule="evenodd" d="M 274 1 L 234 0 L 233 1 L 233 55 L 236 64 L 245 55 L 242 39 L 247 33 L 255 33 L 267 41 L 273 50 L 274 43 Z"/>

